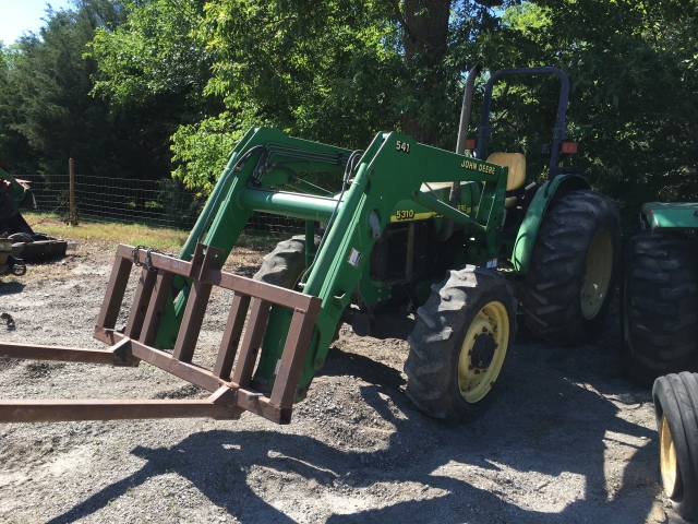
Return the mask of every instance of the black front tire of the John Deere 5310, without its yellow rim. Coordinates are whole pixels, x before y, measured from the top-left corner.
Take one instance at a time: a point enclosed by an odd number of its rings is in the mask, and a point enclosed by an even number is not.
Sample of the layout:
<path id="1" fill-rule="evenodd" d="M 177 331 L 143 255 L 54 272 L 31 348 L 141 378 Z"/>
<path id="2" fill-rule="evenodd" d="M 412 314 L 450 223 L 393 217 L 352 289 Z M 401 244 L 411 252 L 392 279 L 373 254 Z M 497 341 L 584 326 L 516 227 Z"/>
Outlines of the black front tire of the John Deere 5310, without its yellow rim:
<path id="1" fill-rule="evenodd" d="M 476 325 L 474 319 L 492 302 L 504 307 L 508 324 L 502 364 L 484 396 L 477 402 L 467 402 L 459 385 L 461 349 L 469 327 Z M 417 325 L 408 337 L 410 353 L 405 362 L 407 396 L 430 417 L 448 422 L 472 420 L 496 396 L 512 353 L 516 336 L 513 286 L 494 270 L 467 265 L 449 271 L 444 282 L 432 286 L 430 298 L 417 310 L 416 318 Z"/>

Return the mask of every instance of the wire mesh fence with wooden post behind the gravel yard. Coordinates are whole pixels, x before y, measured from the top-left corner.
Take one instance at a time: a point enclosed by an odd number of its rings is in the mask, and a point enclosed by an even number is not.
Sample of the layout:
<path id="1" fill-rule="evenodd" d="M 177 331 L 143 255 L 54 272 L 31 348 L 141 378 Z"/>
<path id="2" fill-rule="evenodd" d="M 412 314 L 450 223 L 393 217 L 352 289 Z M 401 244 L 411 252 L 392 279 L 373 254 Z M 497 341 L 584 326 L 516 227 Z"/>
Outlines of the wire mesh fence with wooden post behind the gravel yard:
<path id="1" fill-rule="evenodd" d="M 70 178 L 68 175 L 17 175 L 31 182 L 36 211 L 68 219 Z M 191 229 L 206 203 L 180 182 L 75 175 L 75 204 L 79 222 L 119 222 L 151 227 Z M 255 213 L 248 231 L 291 236 L 304 231 L 303 221 L 268 213 Z"/>

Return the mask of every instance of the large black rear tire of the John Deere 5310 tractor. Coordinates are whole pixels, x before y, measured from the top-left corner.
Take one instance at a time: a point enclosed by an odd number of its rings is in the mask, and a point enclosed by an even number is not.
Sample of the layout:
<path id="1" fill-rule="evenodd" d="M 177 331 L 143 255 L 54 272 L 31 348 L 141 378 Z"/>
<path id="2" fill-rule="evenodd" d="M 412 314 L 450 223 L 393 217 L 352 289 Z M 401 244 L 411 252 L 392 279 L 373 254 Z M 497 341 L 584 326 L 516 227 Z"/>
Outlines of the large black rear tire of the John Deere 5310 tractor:
<path id="1" fill-rule="evenodd" d="M 594 254 L 599 246 L 607 246 L 601 259 Z M 593 338 L 609 311 L 619 262 L 621 218 L 613 200 L 591 190 L 569 191 L 554 200 L 543 215 L 524 282 L 528 329 L 561 346 Z M 588 295 L 582 297 L 593 284 L 587 283 L 589 267 L 603 267 L 598 274 L 604 283 L 598 286 L 591 311 Z"/>

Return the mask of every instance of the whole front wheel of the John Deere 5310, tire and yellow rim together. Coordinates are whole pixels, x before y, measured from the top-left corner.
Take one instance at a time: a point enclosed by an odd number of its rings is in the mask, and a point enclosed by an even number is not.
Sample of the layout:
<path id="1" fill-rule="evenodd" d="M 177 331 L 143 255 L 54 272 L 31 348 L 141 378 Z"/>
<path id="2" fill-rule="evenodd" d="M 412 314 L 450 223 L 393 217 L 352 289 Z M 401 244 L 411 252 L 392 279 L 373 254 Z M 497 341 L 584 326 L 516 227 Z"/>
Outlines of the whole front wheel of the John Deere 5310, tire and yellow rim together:
<path id="1" fill-rule="evenodd" d="M 512 353 L 513 286 L 494 270 L 467 265 L 432 286 L 416 318 L 405 362 L 407 396 L 430 417 L 472 420 L 496 396 Z"/>

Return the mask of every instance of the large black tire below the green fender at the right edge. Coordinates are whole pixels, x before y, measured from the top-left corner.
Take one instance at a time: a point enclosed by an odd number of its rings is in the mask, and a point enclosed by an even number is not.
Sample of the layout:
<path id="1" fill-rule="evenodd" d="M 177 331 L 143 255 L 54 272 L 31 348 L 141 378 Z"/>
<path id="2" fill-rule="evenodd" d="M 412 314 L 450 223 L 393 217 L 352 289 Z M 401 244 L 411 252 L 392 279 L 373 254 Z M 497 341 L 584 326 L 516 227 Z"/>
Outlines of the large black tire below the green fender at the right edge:
<path id="1" fill-rule="evenodd" d="M 650 229 L 627 245 L 623 283 L 623 367 L 645 386 L 661 374 L 693 371 L 698 356 L 696 243 Z"/>

